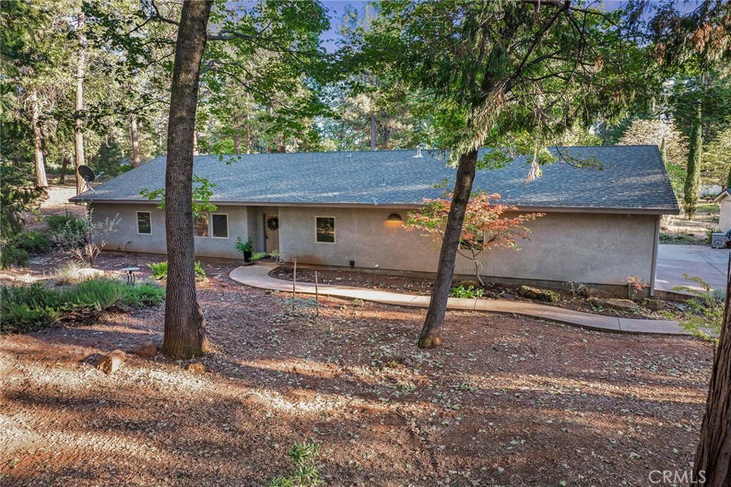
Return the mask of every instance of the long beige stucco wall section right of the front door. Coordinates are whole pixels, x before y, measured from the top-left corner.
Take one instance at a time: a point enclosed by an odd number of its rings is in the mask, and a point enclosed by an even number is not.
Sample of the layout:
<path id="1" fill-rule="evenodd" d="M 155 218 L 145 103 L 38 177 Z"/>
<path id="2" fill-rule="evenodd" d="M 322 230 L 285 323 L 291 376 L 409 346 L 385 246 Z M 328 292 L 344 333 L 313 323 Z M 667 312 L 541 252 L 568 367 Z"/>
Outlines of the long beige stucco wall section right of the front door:
<path id="1" fill-rule="evenodd" d="M 299 263 L 435 272 L 439 252 L 420 233 L 386 222 L 388 208 L 279 208 L 281 254 Z M 405 219 L 403 210 L 396 211 Z M 336 219 L 336 243 L 315 241 L 315 216 Z M 480 255 L 482 275 L 514 279 L 626 285 L 651 282 L 658 216 L 548 214 L 530 222 L 521 249 Z M 455 273 L 474 273 L 458 257 Z"/>

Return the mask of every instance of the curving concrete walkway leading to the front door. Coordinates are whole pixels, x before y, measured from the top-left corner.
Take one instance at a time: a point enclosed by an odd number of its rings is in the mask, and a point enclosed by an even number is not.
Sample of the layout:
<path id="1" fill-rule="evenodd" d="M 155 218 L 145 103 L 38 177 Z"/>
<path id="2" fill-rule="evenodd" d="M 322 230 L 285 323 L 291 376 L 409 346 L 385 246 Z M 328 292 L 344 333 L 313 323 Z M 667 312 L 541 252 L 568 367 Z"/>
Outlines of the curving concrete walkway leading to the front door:
<path id="1" fill-rule="evenodd" d="M 246 265 L 235 268 L 230 273 L 231 279 L 241 284 L 261 289 L 292 292 L 292 282 L 270 277 L 268 273 L 273 266 L 265 264 Z M 303 294 L 315 293 L 314 284 L 305 282 L 297 285 L 297 292 Z M 395 304 L 398 306 L 414 306 L 426 308 L 429 306 L 429 296 L 415 296 L 365 289 L 363 287 L 333 286 L 319 284 L 321 295 L 337 296 L 338 298 L 362 299 L 376 303 Z M 449 309 L 464 309 L 493 313 L 520 314 L 521 316 L 539 318 L 566 325 L 586 328 L 588 330 L 608 331 L 610 333 L 658 333 L 662 335 L 687 335 L 677 321 L 666 320 L 637 320 L 635 318 L 618 318 L 557 308 L 547 304 L 504 301 L 499 299 L 462 299 L 449 298 Z"/>

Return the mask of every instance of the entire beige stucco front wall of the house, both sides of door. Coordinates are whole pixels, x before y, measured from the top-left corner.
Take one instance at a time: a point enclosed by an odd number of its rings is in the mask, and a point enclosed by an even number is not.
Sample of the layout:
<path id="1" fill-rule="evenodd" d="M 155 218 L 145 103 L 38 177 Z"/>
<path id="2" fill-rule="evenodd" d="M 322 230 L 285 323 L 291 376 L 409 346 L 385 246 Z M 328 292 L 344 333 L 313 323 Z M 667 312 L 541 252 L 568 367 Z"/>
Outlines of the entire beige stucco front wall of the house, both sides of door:
<path id="1" fill-rule="evenodd" d="M 137 234 L 136 211 L 151 211 L 152 234 Z M 263 214 L 277 208 L 219 206 L 216 213 L 229 216 L 229 238 L 195 238 L 196 254 L 202 257 L 240 258 L 234 248 L 236 237 L 254 237 L 254 251 L 263 250 Z M 390 208 L 279 207 L 281 256 L 298 263 L 355 267 L 391 271 L 436 271 L 439 251 L 430 238 L 417 231 L 406 232 L 399 223 L 387 222 L 406 211 Z M 165 249 L 164 212 L 155 205 L 110 205 L 96 203 L 94 218 L 120 215 L 107 249 L 154 252 Z M 315 241 L 315 216 L 336 219 L 336 243 Z M 530 222 L 532 233 L 519 242 L 521 249 L 483 252 L 482 275 L 508 279 L 591 284 L 626 285 L 628 276 L 651 282 L 655 260 L 655 215 L 547 214 Z M 471 275 L 474 266 L 458 257 L 455 273 Z"/>

